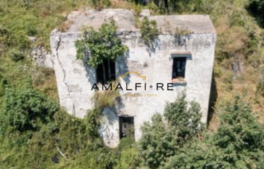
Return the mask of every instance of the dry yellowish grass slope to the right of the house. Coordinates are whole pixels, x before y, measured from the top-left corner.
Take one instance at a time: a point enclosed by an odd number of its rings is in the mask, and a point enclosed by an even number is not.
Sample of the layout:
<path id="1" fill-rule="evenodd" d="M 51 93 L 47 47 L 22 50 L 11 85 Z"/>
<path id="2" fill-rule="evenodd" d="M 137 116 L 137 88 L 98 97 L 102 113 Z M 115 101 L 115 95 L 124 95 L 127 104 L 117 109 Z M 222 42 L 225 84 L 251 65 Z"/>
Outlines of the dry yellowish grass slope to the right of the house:
<path id="1" fill-rule="evenodd" d="M 223 102 L 229 102 L 236 94 L 245 94 L 258 111 L 260 120 L 264 118 L 263 97 L 256 94 L 258 79 L 263 74 L 264 31 L 256 18 L 248 13 L 246 6 L 251 1 L 193 1 L 189 10 L 178 13 L 209 14 L 217 30 L 215 51 L 215 81 L 217 100 L 215 110 Z M 210 128 L 217 128 L 217 114 L 213 115 Z"/>

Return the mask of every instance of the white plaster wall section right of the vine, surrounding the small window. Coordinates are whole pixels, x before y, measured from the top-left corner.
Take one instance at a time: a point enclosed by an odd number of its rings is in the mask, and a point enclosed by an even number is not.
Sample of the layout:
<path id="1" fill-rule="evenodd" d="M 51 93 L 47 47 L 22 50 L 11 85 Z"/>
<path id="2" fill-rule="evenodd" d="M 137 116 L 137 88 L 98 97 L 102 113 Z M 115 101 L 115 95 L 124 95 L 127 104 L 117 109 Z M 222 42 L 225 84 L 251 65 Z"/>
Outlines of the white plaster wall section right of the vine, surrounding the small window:
<path id="1" fill-rule="evenodd" d="M 129 38 L 131 39 L 131 38 Z M 163 113 L 167 101 L 174 101 L 178 94 L 186 90 L 188 101 L 198 101 L 203 112 L 202 121 L 205 123 L 208 115 L 208 104 L 210 97 L 210 85 L 212 80 L 212 68 L 215 53 L 215 35 L 198 34 L 191 35 L 186 39 L 183 45 L 176 45 L 172 35 L 160 35 L 157 40 L 155 52 L 150 52 L 143 44 L 133 45 L 135 40 L 127 39 L 124 44 L 129 46 L 129 53 L 126 56 L 128 68 L 119 68 L 119 75 L 124 75 L 129 71 L 136 71 L 140 75 L 147 77 L 138 77 L 135 73 L 129 74 L 130 77 L 121 79 L 122 87 L 126 87 L 129 82 L 129 88 L 132 91 L 124 91 L 121 94 L 157 94 L 157 97 L 121 97 L 121 106 L 119 114 L 134 115 L 135 137 L 140 138 L 140 126 L 145 120 L 150 120 L 151 116 L 160 112 Z M 136 39 L 138 41 L 138 39 Z M 177 53 L 191 52 L 186 62 L 186 84 L 174 84 L 174 91 L 167 91 L 167 83 L 172 82 L 172 55 L 170 51 Z M 121 58 L 117 61 L 121 65 Z M 145 66 L 144 66 L 145 65 Z M 134 90 L 136 82 L 147 83 L 147 90 Z M 157 83 L 164 83 L 164 91 L 156 89 Z M 153 86 L 152 89 L 149 87 Z M 110 145 L 116 146 L 119 142 L 119 118 L 113 111 L 105 111 L 111 114 L 111 122 L 105 125 L 106 130 L 102 130 L 105 140 Z M 108 135 L 112 139 L 108 139 Z M 113 137 L 114 135 L 114 137 Z"/>

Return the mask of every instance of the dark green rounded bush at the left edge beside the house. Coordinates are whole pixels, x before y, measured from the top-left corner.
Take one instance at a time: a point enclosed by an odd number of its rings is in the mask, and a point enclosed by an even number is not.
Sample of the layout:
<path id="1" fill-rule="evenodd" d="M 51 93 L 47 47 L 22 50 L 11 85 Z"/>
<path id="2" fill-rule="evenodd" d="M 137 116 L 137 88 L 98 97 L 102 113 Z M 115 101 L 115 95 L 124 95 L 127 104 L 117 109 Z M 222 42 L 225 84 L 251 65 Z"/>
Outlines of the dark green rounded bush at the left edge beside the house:
<path id="1" fill-rule="evenodd" d="M 13 130 L 39 130 L 40 125 L 50 123 L 59 107 L 54 101 L 33 89 L 6 89 L 1 108 L 1 124 Z M 0 126 L 3 131 L 3 125 Z"/>

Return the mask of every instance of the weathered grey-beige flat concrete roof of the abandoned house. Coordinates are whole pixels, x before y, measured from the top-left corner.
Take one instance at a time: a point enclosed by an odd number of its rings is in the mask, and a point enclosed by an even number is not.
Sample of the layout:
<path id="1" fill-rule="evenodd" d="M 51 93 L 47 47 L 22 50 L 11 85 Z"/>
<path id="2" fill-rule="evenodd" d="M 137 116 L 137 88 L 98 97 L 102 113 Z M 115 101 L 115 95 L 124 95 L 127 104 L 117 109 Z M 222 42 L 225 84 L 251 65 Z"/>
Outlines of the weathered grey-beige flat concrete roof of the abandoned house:
<path id="1" fill-rule="evenodd" d="M 148 9 L 140 13 L 140 20 L 143 17 L 148 17 L 150 20 L 156 20 L 157 28 L 160 30 L 160 35 L 169 35 L 175 31 L 176 27 L 187 27 L 191 32 L 190 34 L 216 34 L 215 26 L 212 24 L 210 15 L 150 15 Z M 84 14 L 83 14 L 84 13 Z M 80 32 L 80 27 L 88 26 L 97 30 L 100 25 L 109 20 L 115 20 L 117 30 L 119 32 L 138 32 L 140 28 L 135 25 L 135 15 L 123 8 L 104 8 L 102 11 L 87 10 L 83 13 L 72 12 L 68 15 L 68 21 L 72 21 L 72 25 L 66 32 Z M 102 18 L 100 20 L 100 18 Z M 104 20 L 104 21 L 103 21 Z M 92 22 L 94 21 L 94 23 Z M 97 22 L 95 22 L 97 21 Z M 169 25 L 169 32 L 167 31 Z M 54 30 L 51 32 L 58 33 L 60 31 Z M 64 32 L 60 32 L 64 33 Z"/>

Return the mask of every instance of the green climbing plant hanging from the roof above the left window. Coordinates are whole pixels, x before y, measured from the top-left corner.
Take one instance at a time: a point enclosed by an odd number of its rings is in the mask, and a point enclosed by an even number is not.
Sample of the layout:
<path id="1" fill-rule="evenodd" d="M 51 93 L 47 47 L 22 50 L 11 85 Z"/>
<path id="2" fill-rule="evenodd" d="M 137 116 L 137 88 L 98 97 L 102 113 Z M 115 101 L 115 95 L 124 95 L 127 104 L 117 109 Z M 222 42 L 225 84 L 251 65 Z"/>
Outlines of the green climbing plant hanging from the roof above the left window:
<path id="1" fill-rule="evenodd" d="M 88 30 L 83 29 L 83 39 L 76 41 L 76 48 L 76 57 L 83 59 L 88 55 L 88 65 L 92 68 L 97 68 L 104 59 L 115 61 L 127 49 L 116 35 L 116 25 L 113 20 L 111 23 L 103 23 L 98 32 L 92 27 Z"/>

